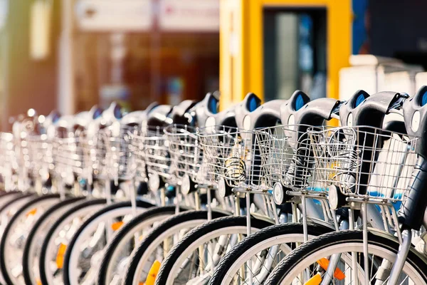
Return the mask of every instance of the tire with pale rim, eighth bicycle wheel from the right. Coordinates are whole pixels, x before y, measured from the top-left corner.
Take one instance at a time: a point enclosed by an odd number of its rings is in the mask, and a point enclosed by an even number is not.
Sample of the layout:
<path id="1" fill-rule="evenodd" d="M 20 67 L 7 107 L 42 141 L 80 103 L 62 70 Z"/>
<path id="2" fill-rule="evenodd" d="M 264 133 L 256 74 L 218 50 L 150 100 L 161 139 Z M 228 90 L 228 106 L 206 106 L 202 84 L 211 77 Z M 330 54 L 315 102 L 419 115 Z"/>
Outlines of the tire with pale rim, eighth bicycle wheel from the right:
<path id="1" fill-rule="evenodd" d="M 73 207 L 74 203 L 82 199 L 85 199 L 85 197 L 73 197 L 50 207 L 31 228 L 25 247 L 23 248 L 22 256 L 22 275 L 25 284 L 37 285 L 40 282 L 38 256 L 40 255 L 41 245 L 43 244 L 43 239 L 46 237 L 46 232 L 51 227 L 51 221 L 58 219 L 65 211 Z"/>

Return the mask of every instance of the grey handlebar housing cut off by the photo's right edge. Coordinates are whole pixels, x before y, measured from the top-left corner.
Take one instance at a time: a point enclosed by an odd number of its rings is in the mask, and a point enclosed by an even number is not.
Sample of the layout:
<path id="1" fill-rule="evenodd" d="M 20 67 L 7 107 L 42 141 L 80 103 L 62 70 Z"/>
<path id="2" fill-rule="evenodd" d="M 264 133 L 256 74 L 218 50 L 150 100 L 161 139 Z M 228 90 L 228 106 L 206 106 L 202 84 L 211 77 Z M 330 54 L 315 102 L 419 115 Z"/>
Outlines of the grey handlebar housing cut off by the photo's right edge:
<path id="1" fill-rule="evenodd" d="M 408 135 L 418 138 L 418 155 L 427 158 L 427 86 L 422 86 L 404 102 L 404 119 Z"/>

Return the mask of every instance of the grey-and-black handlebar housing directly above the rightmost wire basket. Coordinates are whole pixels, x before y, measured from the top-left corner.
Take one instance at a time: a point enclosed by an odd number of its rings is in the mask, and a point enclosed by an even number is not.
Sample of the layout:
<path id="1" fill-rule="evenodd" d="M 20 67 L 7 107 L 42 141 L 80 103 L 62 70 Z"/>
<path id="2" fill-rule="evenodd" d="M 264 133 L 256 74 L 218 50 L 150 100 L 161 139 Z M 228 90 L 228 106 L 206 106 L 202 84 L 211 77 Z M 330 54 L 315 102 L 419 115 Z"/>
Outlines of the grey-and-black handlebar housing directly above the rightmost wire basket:
<path id="1" fill-rule="evenodd" d="M 355 93 L 354 98 L 356 102 L 360 95 L 366 95 L 367 93 L 363 90 L 359 90 Z M 358 105 L 347 102 L 342 105 L 339 110 L 339 116 L 341 118 L 342 125 L 369 125 L 371 127 L 381 128 L 384 122 L 384 117 L 391 106 L 401 98 L 406 98 L 404 93 L 396 93 L 390 91 L 379 92 L 371 95 Z"/>

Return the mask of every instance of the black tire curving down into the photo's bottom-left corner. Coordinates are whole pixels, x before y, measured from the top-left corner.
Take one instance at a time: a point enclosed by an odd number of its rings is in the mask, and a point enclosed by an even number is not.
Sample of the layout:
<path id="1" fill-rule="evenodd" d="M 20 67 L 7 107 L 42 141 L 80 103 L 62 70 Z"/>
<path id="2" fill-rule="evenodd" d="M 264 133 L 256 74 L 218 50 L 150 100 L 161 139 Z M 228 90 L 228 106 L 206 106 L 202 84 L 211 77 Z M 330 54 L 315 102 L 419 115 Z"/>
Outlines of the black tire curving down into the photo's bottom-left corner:
<path id="1" fill-rule="evenodd" d="M 21 214 L 28 211 L 28 209 L 31 209 L 32 207 L 34 207 L 33 206 L 34 204 L 46 199 L 59 199 L 59 195 L 58 194 L 43 195 L 40 197 L 36 197 L 36 199 L 33 199 L 30 202 L 27 202 L 26 204 L 23 204 L 23 206 L 20 207 L 18 211 L 16 211 L 14 216 L 11 217 L 11 219 L 9 220 L 9 223 L 4 228 L 4 232 L 0 239 L 0 271 L 7 285 L 14 285 L 13 281 L 11 280 L 11 277 L 9 276 L 9 271 L 6 268 L 5 248 L 7 244 L 7 239 L 9 238 L 9 232 L 11 231 L 16 219 L 21 217 Z"/>

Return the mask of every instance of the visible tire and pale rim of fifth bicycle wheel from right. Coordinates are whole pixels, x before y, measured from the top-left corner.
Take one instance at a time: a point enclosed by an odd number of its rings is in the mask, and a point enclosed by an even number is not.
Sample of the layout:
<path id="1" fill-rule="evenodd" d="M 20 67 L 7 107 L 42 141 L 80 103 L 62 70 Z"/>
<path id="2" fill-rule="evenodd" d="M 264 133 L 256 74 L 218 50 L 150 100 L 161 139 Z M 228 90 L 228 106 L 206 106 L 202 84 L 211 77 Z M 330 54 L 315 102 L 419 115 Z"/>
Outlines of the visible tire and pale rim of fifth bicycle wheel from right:
<path id="1" fill-rule="evenodd" d="M 180 212 L 188 208 L 181 207 Z M 176 212 L 175 206 L 155 207 L 131 219 L 112 238 L 107 245 L 100 262 L 97 275 L 97 285 L 120 284 L 120 276 L 129 261 L 132 250 L 137 246 L 141 237 L 156 227 L 159 222 L 171 217 Z M 136 236 L 136 237 L 135 237 Z"/>

